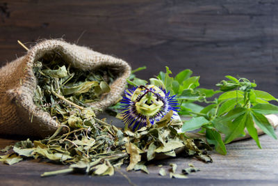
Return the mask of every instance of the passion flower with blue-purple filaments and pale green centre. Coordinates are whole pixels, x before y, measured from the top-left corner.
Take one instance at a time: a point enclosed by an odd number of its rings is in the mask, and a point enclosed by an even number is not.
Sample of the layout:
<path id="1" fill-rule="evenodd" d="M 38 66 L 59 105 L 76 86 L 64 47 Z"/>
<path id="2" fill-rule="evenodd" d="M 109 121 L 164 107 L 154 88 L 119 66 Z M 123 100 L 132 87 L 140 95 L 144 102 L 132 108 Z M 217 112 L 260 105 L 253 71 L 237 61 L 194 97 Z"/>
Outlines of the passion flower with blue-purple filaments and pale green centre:
<path id="1" fill-rule="evenodd" d="M 177 109 L 179 103 L 175 95 L 170 96 L 170 91 L 158 88 L 154 85 L 136 86 L 124 92 L 122 103 L 122 120 L 132 130 L 145 127 L 147 123 L 152 125 L 160 121 L 170 110 L 172 118 L 179 118 Z"/>

